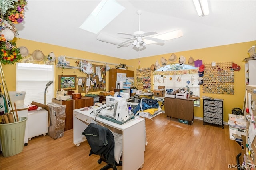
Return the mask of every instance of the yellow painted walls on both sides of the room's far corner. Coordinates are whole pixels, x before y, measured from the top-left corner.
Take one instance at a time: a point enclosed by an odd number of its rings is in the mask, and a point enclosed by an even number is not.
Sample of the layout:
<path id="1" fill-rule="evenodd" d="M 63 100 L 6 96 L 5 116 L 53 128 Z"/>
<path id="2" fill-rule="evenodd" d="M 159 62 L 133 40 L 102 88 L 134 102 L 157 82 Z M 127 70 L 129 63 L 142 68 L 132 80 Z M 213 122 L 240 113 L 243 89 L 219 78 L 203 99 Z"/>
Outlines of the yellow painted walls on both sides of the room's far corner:
<path id="1" fill-rule="evenodd" d="M 193 57 L 194 60 L 202 59 L 203 63 L 211 63 L 215 62 L 231 62 L 238 64 L 241 66 L 240 71 L 235 71 L 234 73 L 234 95 L 220 95 L 220 94 L 208 94 L 202 93 L 202 88 L 200 88 L 200 97 L 203 95 L 211 96 L 214 98 L 222 98 L 224 99 L 224 121 L 228 121 L 228 113 L 231 112 L 231 109 L 234 107 L 240 107 L 242 109 L 245 95 L 245 77 L 244 77 L 244 63 L 242 60 L 245 57 L 248 57 L 247 51 L 252 46 L 255 45 L 256 41 L 252 42 L 244 42 L 244 43 L 236 43 L 230 45 L 222 45 L 218 47 L 210 47 L 204 49 L 196 49 L 190 51 L 182 51 L 176 52 L 176 56 L 179 57 L 183 55 L 186 58 L 186 63 L 188 62 L 189 57 Z M 138 59 L 124 60 L 118 59 L 114 57 L 109 57 L 106 55 L 99 55 L 95 53 L 80 51 L 76 49 L 70 49 L 65 47 L 60 47 L 56 45 L 50 45 L 46 43 L 34 42 L 30 40 L 17 39 L 16 40 L 17 47 L 26 46 L 30 53 L 33 53 L 34 50 L 41 50 L 44 55 L 48 55 L 50 52 L 54 52 L 55 56 L 58 57 L 60 55 L 66 55 L 69 57 L 83 58 L 88 60 L 96 60 L 102 61 L 106 63 L 125 63 L 126 65 L 132 65 L 133 68 L 129 67 L 129 70 L 134 70 L 135 72 L 135 81 L 136 81 L 136 69 L 137 68 L 146 68 L 150 67 L 152 64 L 158 60 L 160 62 L 160 58 L 164 57 L 165 59 L 169 59 L 171 53 L 156 55 L 151 57 L 140 58 L 140 66 L 138 65 Z M 67 59 L 70 61 L 71 66 L 75 66 L 74 62 L 71 59 Z M 103 65 L 103 64 L 102 64 Z M 9 91 L 16 90 L 16 65 L 2 65 L 4 71 L 4 77 L 6 79 L 6 84 L 8 85 Z M 114 67 L 110 65 L 110 67 Z M 75 69 L 64 69 L 62 73 L 61 68 L 56 68 L 55 73 L 55 91 L 58 89 L 58 75 L 77 75 L 77 76 L 85 76 L 86 74 L 81 73 Z M 108 89 L 108 72 L 106 73 L 106 87 Z M 196 77 L 195 77 L 196 78 Z M 153 84 L 153 81 L 152 81 Z M 194 116 L 203 117 L 203 107 L 201 100 L 201 107 L 194 107 Z"/>

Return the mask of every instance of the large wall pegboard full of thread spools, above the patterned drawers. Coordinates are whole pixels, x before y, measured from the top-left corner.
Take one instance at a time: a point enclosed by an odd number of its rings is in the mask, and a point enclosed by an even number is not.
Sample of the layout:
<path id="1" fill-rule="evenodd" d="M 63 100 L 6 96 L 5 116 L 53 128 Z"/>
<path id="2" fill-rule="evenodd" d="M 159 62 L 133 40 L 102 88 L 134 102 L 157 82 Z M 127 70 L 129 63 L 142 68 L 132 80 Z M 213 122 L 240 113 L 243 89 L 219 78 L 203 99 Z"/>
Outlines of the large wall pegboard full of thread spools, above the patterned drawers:
<path id="1" fill-rule="evenodd" d="M 233 62 L 204 64 L 203 93 L 234 95 Z"/>

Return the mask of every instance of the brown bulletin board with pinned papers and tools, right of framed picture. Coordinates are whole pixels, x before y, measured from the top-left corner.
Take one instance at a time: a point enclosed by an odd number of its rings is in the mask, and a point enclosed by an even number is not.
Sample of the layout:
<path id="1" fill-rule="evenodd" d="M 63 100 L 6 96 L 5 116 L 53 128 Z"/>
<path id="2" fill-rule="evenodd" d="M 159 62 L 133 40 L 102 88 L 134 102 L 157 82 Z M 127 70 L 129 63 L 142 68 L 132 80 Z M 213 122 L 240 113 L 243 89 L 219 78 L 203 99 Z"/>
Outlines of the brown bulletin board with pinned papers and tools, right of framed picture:
<path id="1" fill-rule="evenodd" d="M 78 92 L 90 93 L 106 89 L 106 70 L 102 65 L 92 64 L 93 73 L 86 77 L 78 77 Z"/>

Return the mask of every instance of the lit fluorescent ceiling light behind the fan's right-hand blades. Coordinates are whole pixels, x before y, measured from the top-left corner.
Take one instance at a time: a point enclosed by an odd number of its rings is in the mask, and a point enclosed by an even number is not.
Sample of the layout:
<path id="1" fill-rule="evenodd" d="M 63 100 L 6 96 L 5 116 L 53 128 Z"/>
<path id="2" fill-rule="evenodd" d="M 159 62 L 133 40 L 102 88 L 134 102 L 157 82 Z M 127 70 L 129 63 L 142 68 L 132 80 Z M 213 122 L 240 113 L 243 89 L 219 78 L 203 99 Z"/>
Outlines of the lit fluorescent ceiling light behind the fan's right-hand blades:
<path id="1" fill-rule="evenodd" d="M 172 40 L 174 38 L 179 38 L 179 37 L 182 37 L 182 36 L 183 36 L 183 33 L 182 33 L 181 30 L 175 30 L 175 31 L 171 31 L 171 32 L 166 32 L 164 34 L 158 34 L 158 35 L 152 36 L 152 37 L 167 41 L 167 40 Z M 144 42 L 147 45 L 152 44 L 152 43 L 157 43 L 155 41 L 148 40 L 148 39 L 144 39 Z"/>

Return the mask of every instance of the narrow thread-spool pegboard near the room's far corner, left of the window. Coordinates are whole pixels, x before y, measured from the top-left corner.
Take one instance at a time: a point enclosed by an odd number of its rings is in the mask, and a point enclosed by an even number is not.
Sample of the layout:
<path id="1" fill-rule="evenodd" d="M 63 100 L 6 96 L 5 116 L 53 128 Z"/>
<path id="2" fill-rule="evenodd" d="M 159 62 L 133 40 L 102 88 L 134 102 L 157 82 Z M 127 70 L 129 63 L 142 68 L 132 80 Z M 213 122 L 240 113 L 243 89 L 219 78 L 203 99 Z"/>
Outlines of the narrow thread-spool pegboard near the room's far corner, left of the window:
<path id="1" fill-rule="evenodd" d="M 151 70 L 150 68 L 137 69 L 137 89 L 151 89 Z"/>

